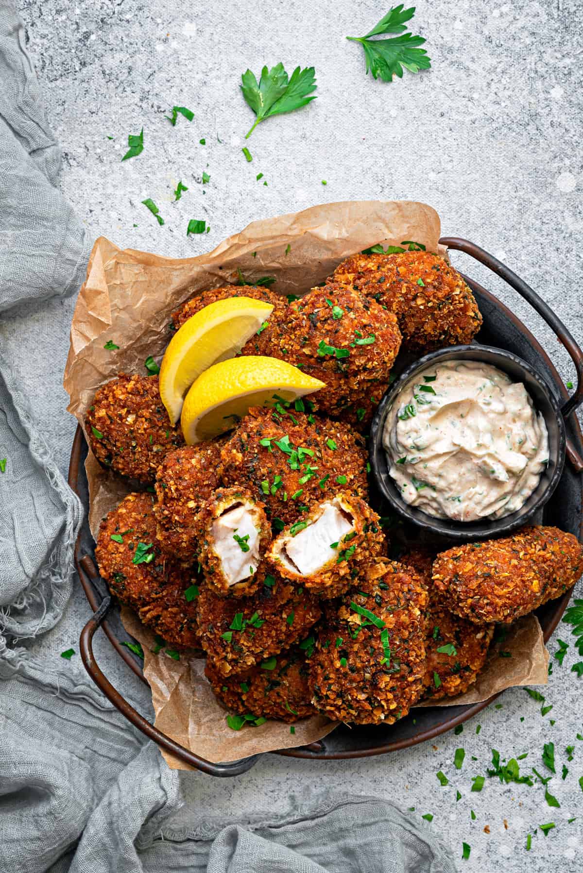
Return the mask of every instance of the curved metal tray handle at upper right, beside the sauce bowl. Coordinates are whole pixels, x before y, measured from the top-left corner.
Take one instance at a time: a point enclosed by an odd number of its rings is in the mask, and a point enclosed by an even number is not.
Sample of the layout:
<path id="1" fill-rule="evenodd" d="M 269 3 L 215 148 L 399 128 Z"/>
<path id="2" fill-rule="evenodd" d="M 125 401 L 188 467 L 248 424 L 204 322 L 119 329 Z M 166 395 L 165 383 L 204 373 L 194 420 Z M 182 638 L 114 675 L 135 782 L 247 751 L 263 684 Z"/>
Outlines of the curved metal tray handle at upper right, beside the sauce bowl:
<path id="1" fill-rule="evenodd" d="M 567 352 L 571 355 L 571 360 L 577 370 L 577 389 L 572 397 L 561 407 L 561 415 L 563 418 L 568 418 L 583 403 L 583 351 L 575 342 L 571 333 L 566 329 L 563 322 L 552 312 L 543 299 L 537 292 L 533 291 L 530 285 L 527 285 L 515 272 L 512 272 L 509 267 L 490 255 L 487 251 L 480 248 L 479 245 L 470 243 L 467 239 L 460 237 L 441 237 L 440 243 L 447 245 L 448 249 L 456 249 L 464 251 L 467 255 L 471 255 L 480 264 L 489 267 L 497 276 L 503 278 L 510 287 L 514 288 L 521 297 L 524 297 L 527 303 L 530 303 L 532 308 L 546 321 L 552 331 L 557 336 L 559 342 L 563 344 Z"/>

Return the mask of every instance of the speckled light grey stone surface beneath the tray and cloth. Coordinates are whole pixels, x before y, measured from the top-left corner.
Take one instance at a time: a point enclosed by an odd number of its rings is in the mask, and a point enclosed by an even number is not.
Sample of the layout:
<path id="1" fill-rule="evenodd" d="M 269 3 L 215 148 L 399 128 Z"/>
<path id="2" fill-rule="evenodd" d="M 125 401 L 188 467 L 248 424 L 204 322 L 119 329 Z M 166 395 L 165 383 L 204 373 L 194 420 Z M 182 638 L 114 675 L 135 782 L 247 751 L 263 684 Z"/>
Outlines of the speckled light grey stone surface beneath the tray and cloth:
<path id="1" fill-rule="evenodd" d="M 368 31 L 388 6 L 372 0 L 23 0 L 46 112 L 63 148 L 66 196 L 92 236 L 172 257 L 210 249 L 255 218 L 316 203 L 426 201 L 440 212 L 444 233 L 468 237 L 503 258 L 583 343 L 583 6 L 421 0 L 414 32 L 427 37 L 433 69 L 384 84 L 364 76 L 362 52 L 344 36 Z M 241 147 L 252 113 L 239 94 L 239 76 L 247 66 L 259 72 L 279 60 L 288 70 L 316 66 L 318 100 L 260 125 L 247 143 L 253 153 L 247 163 Z M 170 127 L 164 120 L 174 104 L 194 111 L 191 124 L 179 118 Z M 121 163 L 128 133 L 141 127 L 142 155 Z M 211 176 L 204 188 L 203 170 Z M 257 182 L 259 172 L 264 178 Z M 172 203 L 178 180 L 189 191 Z M 160 207 L 163 227 L 141 205 L 145 197 Z M 205 219 L 210 234 L 187 238 L 190 218 Z M 453 260 L 468 266 L 463 256 Z M 562 347 L 538 318 L 502 283 L 473 265 L 471 272 L 510 302 L 563 378 L 573 379 Z M 0 325 L 63 471 L 74 430 L 60 387 L 73 303 L 13 313 Z M 87 615 L 78 590 L 57 629 L 37 643 L 47 670 L 63 666 L 60 651 L 77 647 Z M 559 636 L 569 640 L 565 625 Z M 108 675 L 146 708 L 142 687 L 107 643 L 100 641 L 98 655 Z M 463 870 L 575 873 L 583 849 L 583 742 L 576 739 L 583 735 L 583 679 L 571 672 L 576 660 L 572 646 L 562 666 L 554 662 L 543 690 L 553 709 L 545 717 L 524 691 L 507 691 L 501 708 L 480 715 L 479 734 L 475 719 L 460 736 L 383 758 L 315 763 L 269 755 L 236 780 L 184 773 L 182 815 L 282 809 L 320 790 L 385 795 L 432 813 L 429 827 L 441 831 L 460 859 L 462 841 L 468 842 L 471 857 L 460 860 Z M 77 661 L 71 670 L 81 669 Z M 549 741 L 558 764 L 548 788 L 560 808 L 547 806 L 540 783 L 488 779 L 482 793 L 470 794 L 471 777 L 485 774 L 492 748 L 503 758 L 529 753 L 521 765 L 546 773 L 541 752 Z M 571 762 L 567 745 L 575 746 Z M 461 771 L 454 766 L 458 746 L 466 750 Z M 449 777 L 447 787 L 436 778 L 439 770 Z M 549 821 L 556 828 L 546 838 L 538 830 L 526 852 L 526 835 Z"/>

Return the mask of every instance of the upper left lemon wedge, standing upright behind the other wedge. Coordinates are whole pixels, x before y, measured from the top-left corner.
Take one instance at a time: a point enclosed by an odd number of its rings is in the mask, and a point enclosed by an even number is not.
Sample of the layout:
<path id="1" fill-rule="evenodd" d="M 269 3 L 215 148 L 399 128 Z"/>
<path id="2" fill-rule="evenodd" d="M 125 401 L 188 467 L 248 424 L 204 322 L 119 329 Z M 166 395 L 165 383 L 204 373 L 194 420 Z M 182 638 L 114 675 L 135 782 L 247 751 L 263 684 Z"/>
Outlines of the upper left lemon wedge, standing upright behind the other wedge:
<path id="1" fill-rule="evenodd" d="M 232 297 L 205 306 L 184 322 L 164 352 L 158 377 L 172 424 L 180 418 L 192 382 L 212 364 L 233 358 L 273 310 L 262 300 Z"/>

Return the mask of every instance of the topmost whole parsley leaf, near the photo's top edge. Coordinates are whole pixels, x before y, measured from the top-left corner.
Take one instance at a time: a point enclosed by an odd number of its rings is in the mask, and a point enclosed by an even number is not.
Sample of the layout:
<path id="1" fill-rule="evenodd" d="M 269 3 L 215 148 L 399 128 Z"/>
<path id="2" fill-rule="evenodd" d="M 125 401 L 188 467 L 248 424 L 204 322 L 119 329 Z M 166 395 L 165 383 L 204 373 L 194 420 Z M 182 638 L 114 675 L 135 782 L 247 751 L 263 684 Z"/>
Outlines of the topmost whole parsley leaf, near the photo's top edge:
<path id="1" fill-rule="evenodd" d="M 350 42 L 362 45 L 366 59 L 365 72 L 370 70 L 373 79 L 380 77 L 384 82 L 390 82 L 393 76 L 402 78 L 403 67 L 409 72 L 428 70 L 431 67 L 431 59 L 427 57 L 427 51 L 419 48 L 425 39 L 413 36 L 412 33 L 403 33 L 406 31 L 403 23 L 413 17 L 414 11 L 414 6 L 403 10 L 403 3 L 401 3 L 387 12 L 364 37 L 346 37 Z M 392 39 L 370 39 L 381 33 L 399 33 L 401 36 Z"/>

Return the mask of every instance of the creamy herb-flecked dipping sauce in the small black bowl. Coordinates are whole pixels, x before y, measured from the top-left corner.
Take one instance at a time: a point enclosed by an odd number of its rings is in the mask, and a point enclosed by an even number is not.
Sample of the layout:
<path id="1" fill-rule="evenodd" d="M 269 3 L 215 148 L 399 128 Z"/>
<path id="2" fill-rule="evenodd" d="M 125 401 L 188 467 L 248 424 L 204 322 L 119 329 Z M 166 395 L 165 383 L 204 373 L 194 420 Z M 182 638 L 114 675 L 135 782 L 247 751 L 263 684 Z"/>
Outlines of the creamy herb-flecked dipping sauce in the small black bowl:
<path id="1" fill-rule="evenodd" d="M 444 361 L 406 382 L 383 445 L 405 502 L 456 521 L 516 512 L 549 458 L 545 420 L 524 384 L 479 361 Z"/>

